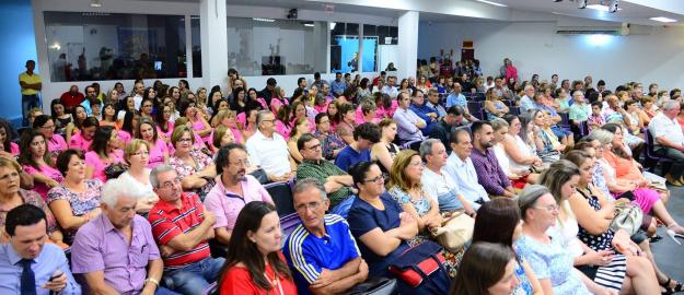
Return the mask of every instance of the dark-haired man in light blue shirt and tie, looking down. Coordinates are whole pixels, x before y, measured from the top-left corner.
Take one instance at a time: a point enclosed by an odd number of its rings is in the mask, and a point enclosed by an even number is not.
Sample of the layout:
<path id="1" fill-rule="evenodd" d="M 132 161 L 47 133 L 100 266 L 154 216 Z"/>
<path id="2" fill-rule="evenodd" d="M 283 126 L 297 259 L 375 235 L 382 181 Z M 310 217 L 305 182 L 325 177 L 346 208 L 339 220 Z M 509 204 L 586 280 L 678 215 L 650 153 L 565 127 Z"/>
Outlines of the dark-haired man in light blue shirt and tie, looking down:
<path id="1" fill-rule="evenodd" d="M 0 293 L 79 295 L 69 261 L 61 248 L 48 239 L 43 210 L 22 204 L 7 213 L 0 245 Z"/>

